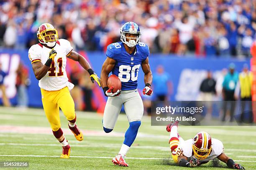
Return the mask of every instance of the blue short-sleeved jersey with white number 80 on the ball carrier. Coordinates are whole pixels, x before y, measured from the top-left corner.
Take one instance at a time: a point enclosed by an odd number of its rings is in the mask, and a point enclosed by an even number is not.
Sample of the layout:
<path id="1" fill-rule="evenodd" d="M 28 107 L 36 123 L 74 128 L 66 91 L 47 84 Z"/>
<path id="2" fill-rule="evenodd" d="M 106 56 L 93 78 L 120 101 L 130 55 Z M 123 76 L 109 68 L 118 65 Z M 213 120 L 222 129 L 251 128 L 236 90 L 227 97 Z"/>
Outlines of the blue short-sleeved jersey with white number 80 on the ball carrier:
<path id="1" fill-rule="evenodd" d="M 108 45 L 107 57 L 115 60 L 112 74 L 119 77 L 122 82 L 121 90 L 134 90 L 138 86 L 138 70 L 141 63 L 149 56 L 148 45 L 139 42 L 134 54 L 126 52 L 123 42 Z"/>

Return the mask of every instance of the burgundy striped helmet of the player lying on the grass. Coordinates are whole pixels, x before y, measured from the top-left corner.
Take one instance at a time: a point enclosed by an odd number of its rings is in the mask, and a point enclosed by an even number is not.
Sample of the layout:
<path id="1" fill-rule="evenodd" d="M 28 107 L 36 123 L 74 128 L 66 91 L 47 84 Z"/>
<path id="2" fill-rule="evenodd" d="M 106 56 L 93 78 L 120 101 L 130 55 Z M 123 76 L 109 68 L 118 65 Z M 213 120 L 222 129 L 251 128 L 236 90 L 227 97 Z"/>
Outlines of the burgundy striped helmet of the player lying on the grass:
<path id="1" fill-rule="evenodd" d="M 206 159 L 212 152 L 212 138 L 206 132 L 199 132 L 193 139 L 192 149 L 195 158 L 198 160 Z"/>

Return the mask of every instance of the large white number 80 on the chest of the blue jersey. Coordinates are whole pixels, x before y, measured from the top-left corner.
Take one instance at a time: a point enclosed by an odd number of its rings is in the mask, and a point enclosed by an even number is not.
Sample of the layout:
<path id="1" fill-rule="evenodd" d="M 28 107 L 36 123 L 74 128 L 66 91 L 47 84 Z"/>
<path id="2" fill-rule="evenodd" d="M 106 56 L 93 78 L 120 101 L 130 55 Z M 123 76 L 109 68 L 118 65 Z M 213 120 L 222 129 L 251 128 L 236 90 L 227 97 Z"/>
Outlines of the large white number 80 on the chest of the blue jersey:
<path id="1" fill-rule="evenodd" d="M 132 81 L 138 80 L 138 70 L 140 67 L 141 67 L 140 64 L 134 65 L 133 67 L 131 67 L 130 65 L 120 65 L 118 77 L 121 80 L 121 82 L 128 82 L 130 79 Z M 136 72 L 136 76 L 135 76 L 135 72 Z M 123 78 L 123 75 L 125 75 L 125 78 Z"/>

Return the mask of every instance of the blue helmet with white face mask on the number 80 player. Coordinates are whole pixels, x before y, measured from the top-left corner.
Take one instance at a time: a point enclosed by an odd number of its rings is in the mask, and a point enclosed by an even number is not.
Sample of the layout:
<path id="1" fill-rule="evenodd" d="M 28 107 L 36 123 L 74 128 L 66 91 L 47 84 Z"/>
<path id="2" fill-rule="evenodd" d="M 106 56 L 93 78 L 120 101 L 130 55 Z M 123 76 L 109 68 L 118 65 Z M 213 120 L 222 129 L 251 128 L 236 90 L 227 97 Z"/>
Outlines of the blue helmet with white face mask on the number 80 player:
<path id="1" fill-rule="evenodd" d="M 126 37 L 125 37 L 126 33 L 136 34 L 137 35 L 136 40 L 126 41 Z M 121 27 L 120 34 L 121 34 L 121 41 L 123 43 L 125 43 L 126 45 L 128 45 L 128 47 L 134 47 L 136 44 L 139 43 L 139 41 L 141 39 L 140 28 L 138 27 L 138 25 L 136 23 L 133 23 L 133 22 L 125 23 Z"/>

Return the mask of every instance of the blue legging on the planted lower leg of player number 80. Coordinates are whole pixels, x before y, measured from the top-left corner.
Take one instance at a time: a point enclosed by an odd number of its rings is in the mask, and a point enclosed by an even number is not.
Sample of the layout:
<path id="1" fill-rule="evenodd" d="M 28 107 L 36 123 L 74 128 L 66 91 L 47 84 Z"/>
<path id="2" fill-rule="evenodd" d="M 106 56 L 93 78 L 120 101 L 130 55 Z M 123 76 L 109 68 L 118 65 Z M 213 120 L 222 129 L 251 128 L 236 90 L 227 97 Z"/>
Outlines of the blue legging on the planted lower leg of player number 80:
<path id="1" fill-rule="evenodd" d="M 130 126 L 125 133 L 125 140 L 123 141 L 123 144 L 131 147 L 137 136 L 138 128 L 140 127 L 140 125 L 141 121 L 130 122 Z"/>

